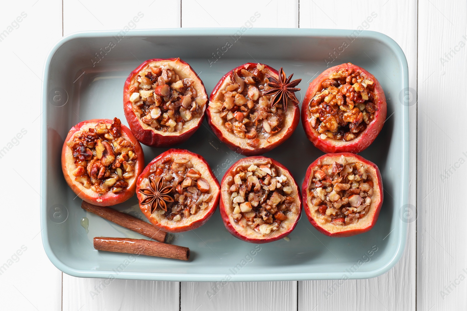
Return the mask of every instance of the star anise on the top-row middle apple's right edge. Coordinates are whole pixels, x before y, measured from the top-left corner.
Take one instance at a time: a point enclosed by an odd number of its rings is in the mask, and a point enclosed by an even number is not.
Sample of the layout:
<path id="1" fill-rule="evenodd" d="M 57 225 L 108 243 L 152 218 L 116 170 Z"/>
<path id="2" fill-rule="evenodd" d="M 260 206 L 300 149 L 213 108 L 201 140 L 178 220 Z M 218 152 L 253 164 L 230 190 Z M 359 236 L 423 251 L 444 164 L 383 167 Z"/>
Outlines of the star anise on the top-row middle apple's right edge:
<path id="1" fill-rule="evenodd" d="M 263 93 L 263 95 L 275 95 L 271 107 L 274 107 L 276 104 L 282 101 L 282 105 L 284 107 L 284 111 L 287 110 L 287 100 L 290 100 L 293 104 L 298 105 L 297 97 L 295 96 L 295 92 L 299 91 L 299 88 L 295 86 L 298 85 L 302 81 L 302 79 L 296 79 L 290 81 L 292 79 L 293 74 L 291 74 L 288 78 L 285 75 L 284 69 L 279 70 L 279 80 L 275 77 L 266 74 L 266 77 L 269 79 L 268 85 L 272 87 L 272 89 L 267 90 Z"/>

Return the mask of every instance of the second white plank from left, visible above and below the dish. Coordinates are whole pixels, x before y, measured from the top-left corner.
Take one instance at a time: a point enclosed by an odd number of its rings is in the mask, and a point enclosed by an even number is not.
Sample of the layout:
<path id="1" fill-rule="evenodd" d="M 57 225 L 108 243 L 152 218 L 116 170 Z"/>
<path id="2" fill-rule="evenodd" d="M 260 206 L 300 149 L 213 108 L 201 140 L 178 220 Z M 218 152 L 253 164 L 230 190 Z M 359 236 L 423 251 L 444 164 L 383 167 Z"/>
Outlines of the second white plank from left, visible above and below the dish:
<path id="1" fill-rule="evenodd" d="M 166 14 L 162 14 L 165 12 Z M 64 35 L 78 31 L 180 27 L 180 2 L 64 0 Z M 107 285 L 108 284 L 108 285 Z M 64 274 L 63 310 L 178 310 L 178 282 L 78 278 Z M 97 295 L 96 295 L 97 294 Z"/>

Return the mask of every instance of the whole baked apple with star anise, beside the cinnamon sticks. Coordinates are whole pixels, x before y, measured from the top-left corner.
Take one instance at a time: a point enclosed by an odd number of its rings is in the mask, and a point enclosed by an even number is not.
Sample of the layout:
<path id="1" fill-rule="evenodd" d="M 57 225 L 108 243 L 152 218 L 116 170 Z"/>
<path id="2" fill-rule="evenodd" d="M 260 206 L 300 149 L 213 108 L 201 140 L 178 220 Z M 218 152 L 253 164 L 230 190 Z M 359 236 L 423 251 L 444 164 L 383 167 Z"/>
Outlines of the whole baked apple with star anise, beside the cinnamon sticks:
<path id="1" fill-rule="evenodd" d="M 166 232 L 200 227 L 219 204 L 219 181 L 209 164 L 185 149 L 169 149 L 149 162 L 136 189 L 143 214 Z"/>

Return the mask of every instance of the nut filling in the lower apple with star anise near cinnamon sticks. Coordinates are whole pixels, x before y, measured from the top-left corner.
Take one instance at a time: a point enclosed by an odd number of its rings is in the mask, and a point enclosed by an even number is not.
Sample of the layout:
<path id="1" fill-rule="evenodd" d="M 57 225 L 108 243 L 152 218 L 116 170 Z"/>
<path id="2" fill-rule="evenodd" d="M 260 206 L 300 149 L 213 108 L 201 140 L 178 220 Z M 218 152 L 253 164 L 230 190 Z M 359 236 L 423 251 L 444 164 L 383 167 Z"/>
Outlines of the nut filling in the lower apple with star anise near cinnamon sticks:
<path id="1" fill-rule="evenodd" d="M 189 159 L 166 157 L 161 162 L 150 167 L 148 178 L 143 183 L 150 187 L 149 179 L 159 184 L 158 189 L 153 189 L 161 193 L 162 204 L 151 205 L 151 214 L 158 213 L 170 221 L 181 221 L 197 214 L 199 211 L 209 207 L 212 200 L 212 193 L 209 183 L 201 178 L 201 173 L 193 167 Z M 152 187 L 152 186 L 151 186 Z M 168 189 L 163 191 L 163 189 Z M 142 203 L 148 198 L 148 189 L 142 189 Z"/>

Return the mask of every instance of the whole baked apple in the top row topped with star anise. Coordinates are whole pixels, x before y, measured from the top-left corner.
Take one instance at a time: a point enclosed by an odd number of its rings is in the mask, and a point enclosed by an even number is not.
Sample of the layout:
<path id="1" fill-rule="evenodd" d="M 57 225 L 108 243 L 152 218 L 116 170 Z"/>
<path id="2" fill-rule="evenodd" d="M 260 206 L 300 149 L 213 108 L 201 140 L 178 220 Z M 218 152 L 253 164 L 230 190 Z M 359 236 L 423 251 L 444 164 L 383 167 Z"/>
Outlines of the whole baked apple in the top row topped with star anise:
<path id="1" fill-rule="evenodd" d="M 258 155 L 282 144 L 299 121 L 294 92 L 301 79 L 290 81 L 261 63 L 246 63 L 226 73 L 212 90 L 206 118 L 216 136 L 243 155 Z"/>

